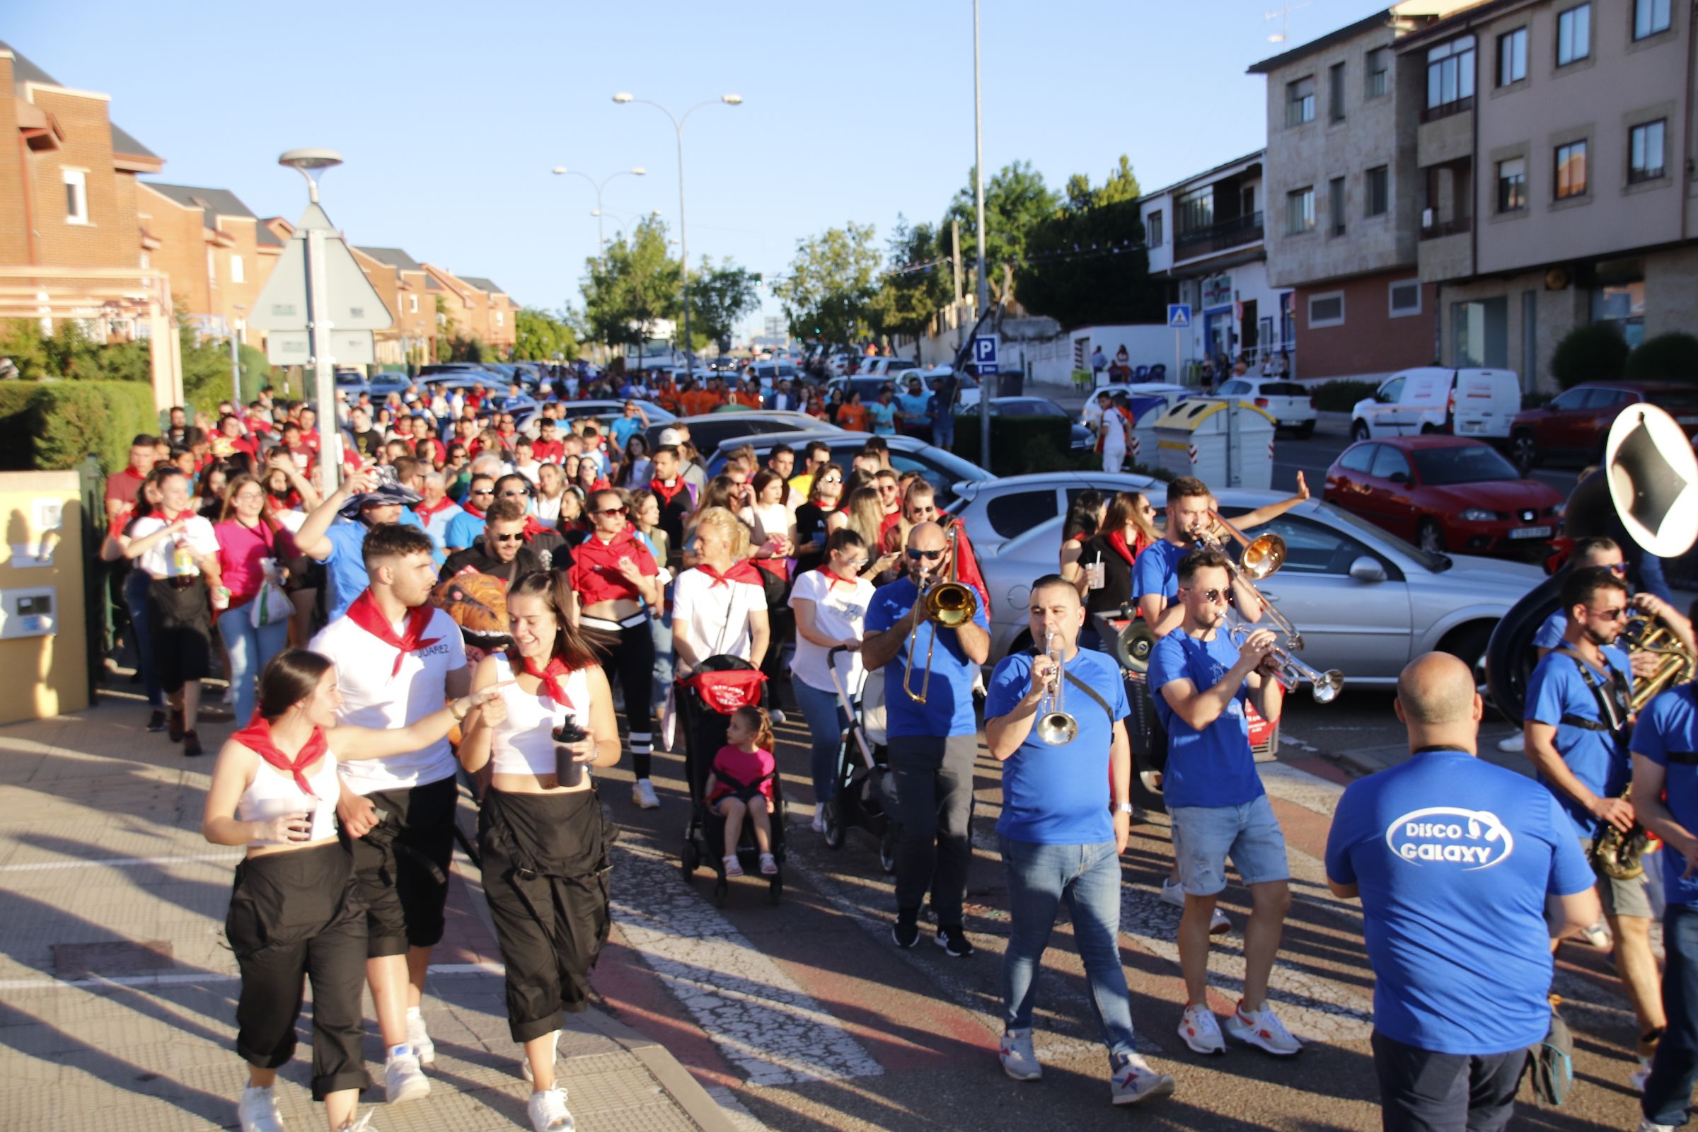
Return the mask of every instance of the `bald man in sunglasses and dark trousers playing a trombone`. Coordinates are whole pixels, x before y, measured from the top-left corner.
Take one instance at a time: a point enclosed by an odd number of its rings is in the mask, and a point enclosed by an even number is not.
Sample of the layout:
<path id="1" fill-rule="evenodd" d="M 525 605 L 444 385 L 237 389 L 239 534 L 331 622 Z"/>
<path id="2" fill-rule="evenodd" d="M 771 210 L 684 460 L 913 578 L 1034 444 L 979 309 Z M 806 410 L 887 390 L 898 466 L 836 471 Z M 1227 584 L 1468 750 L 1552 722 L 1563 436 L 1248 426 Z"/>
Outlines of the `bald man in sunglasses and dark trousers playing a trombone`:
<path id="1" fill-rule="evenodd" d="M 954 580 L 954 543 L 936 523 L 908 531 L 907 577 L 873 592 L 861 660 L 885 669 L 885 726 L 897 786 L 897 947 L 920 939 L 920 901 L 932 893 L 937 945 L 973 954 L 961 925 L 973 859 L 973 760 L 978 720 L 973 677 L 990 657 L 990 625 L 976 594 Z M 915 670 L 919 669 L 919 670 Z"/>

